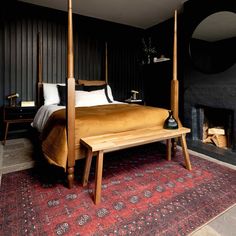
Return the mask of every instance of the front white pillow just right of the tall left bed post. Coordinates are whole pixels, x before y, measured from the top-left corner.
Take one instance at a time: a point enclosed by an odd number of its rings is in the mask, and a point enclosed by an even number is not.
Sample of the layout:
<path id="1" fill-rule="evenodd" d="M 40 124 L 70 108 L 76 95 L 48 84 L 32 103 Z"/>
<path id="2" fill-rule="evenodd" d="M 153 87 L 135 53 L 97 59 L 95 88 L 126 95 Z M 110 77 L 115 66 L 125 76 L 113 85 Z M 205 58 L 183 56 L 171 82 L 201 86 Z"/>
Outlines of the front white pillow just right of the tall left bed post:
<path id="1" fill-rule="evenodd" d="M 97 106 L 109 104 L 105 94 L 105 89 L 87 91 L 75 91 L 75 106 Z"/>

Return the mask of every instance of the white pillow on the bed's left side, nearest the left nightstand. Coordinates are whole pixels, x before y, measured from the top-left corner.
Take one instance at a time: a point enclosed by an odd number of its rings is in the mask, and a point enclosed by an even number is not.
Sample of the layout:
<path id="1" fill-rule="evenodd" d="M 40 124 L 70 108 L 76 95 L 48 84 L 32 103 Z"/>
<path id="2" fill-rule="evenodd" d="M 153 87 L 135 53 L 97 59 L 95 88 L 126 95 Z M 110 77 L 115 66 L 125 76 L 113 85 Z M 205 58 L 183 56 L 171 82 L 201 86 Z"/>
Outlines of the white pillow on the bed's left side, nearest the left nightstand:
<path id="1" fill-rule="evenodd" d="M 57 85 L 65 84 L 43 83 L 44 105 L 53 105 L 60 102 Z"/>

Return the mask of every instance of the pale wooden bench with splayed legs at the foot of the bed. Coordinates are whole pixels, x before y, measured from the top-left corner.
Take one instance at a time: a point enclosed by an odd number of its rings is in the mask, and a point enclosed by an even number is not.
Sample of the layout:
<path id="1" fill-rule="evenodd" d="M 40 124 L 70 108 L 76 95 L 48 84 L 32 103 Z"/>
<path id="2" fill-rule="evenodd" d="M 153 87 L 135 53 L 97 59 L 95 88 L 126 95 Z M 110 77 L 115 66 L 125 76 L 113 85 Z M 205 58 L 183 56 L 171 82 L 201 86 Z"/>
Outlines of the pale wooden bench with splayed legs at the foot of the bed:
<path id="1" fill-rule="evenodd" d="M 103 153 L 121 150 L 124 148 L 139 146 L 157 141 L 167 140 L 167 160 L 171 160 L 171 139 L 179 137 L 181 140 L 185 165 L 191 170 L 191 163 L 187 151 L 186 134 L 190 129 L 181 127 L 176 130 L 160 129 L 150 127 L 139 130 L 132 130 L 113 134 L 104 134 L 92 137 L 81 138 L 81 143 L 87 148 L 87 158 L 82 184 L 88 184 L 88 177 L 91 167 L 92 157 L 97 152 L 96 170 L 95 170 L 95 193 L 94 202 L 98 204 L 101 201 L 102 171 L 103 171 Z"/>

